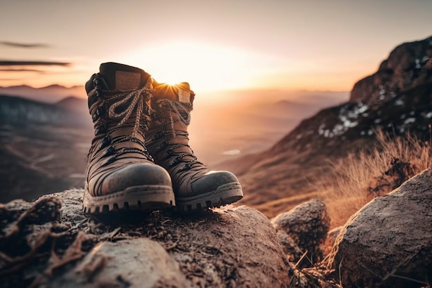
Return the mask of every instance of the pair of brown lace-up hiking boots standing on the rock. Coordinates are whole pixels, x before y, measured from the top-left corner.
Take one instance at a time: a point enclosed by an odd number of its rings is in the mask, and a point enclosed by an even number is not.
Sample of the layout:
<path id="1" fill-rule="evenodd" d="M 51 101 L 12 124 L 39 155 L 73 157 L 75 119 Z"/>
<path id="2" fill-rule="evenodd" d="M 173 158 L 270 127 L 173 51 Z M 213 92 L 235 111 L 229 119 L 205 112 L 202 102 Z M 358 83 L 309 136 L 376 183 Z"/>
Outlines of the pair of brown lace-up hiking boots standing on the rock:
<path id="1" fill-rule="evenodd" d="M 104 63 L 86 83 L 95 137 L 88 153 L 84 211 L 180 211 L 240 200 L 228 171 L 208 171 L 188 144 L 195 94 L 159 84 L 139 68 Z"/>

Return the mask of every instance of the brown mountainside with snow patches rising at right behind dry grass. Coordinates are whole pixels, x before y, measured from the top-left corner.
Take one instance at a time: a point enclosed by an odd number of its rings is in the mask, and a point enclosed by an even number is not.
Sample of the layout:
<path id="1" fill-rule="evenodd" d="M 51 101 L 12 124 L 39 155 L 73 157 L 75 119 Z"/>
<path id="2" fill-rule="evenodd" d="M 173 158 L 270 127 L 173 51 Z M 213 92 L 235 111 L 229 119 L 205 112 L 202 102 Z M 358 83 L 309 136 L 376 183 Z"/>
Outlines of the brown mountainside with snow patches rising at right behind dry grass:
<path id="1" fill-rule="evenodd" d="M 432 37 L 397 46 L 376 73 L 358 81 L 348 102 L 304 119 L 271 148 L 217 165 L 239 175 L 244 204 L 271 216 L 311 197 L 328 160 L 373 146 L 377 129 L 429 141 Z M 328 169 L 327 169 L 328 171 Z M 301 197 L 300 197 L 301 196 Z M 284 200 L 285 199 L 285 200 Z"/>

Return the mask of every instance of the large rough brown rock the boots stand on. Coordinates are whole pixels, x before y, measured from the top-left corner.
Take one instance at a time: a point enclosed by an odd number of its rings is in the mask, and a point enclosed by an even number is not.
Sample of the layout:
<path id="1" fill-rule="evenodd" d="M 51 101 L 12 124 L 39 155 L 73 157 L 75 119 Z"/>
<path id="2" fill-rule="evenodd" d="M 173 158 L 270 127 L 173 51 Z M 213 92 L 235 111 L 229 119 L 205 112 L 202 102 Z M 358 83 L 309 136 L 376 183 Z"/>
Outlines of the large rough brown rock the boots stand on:
<path id="1" fill-rule="evenodd" d="M 255 209 L 88 217 L 82 193 L 0 204 L 2 287 L 289 285 L 276 231 Z"/>

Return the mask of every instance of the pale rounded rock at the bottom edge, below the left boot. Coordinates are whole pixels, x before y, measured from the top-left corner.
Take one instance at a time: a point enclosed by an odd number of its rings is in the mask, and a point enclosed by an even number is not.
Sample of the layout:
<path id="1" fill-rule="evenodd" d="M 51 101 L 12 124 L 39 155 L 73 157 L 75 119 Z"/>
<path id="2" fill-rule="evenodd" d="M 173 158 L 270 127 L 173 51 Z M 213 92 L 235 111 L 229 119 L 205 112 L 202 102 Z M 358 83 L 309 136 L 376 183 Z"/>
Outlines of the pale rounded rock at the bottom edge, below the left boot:
<path id="1" fill-rule="evenodd" d="M 194 287 L 164 247 L 148 238 L 100 242 L 75 267 L 45 287 Z"/>

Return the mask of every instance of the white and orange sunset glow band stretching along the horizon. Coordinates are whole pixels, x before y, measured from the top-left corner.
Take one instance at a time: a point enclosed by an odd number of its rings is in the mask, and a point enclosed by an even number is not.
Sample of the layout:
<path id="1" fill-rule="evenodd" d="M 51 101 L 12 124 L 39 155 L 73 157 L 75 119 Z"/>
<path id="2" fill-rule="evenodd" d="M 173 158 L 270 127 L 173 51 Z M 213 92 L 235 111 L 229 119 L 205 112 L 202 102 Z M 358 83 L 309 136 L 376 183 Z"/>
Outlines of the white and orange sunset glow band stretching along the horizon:
<path id="1" fill-rule="evenodd" d="M 96 61 L 79 59 L 79 64 L 68 67 L 17 67 L 15 71 L 0 74 L 0 86 L 84 86 L 90 76 L 97 73 L 100 62 Z M 373 73 L 368 73 L 370 67 L 360 63 L 357 69 L 347 71 L 332 61 L 320 64 L 315 59 L 306 62 L 293 57 L 279 59 L 250 50 L 186 40 L 122 52 L 101 62 L 106 61 L 146 70 L 160 83 L 187 81 L 197 93 L 272 88 L 346 91 L 352 89 L 355 81 Z"/>

